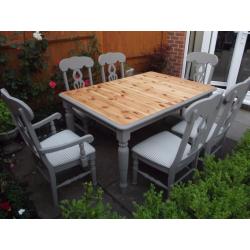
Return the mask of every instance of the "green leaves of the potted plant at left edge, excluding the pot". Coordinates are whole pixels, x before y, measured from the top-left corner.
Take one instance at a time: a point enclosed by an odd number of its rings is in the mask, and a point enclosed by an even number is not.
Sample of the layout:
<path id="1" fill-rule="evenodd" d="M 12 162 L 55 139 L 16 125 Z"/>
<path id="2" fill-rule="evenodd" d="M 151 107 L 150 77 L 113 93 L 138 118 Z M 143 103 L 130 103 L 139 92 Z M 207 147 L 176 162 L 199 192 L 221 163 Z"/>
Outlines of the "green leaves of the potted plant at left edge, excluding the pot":
<path id="1" fill-rule="evenodd" d="M 14 128 L 15 125 L 13 123 L 9 110 L 6 104 L 2 100 L 0 100 L 0 133 L 10 131 Z"/>

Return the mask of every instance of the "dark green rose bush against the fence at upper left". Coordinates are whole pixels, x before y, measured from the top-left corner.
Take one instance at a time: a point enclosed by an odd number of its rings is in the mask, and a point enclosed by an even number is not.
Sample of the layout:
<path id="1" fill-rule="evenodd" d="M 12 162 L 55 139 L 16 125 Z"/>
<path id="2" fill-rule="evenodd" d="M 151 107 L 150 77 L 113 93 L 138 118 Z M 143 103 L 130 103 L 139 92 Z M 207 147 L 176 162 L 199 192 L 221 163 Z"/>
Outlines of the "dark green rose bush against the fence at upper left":
<path id="1" fill-rule="evenodd" d="M 2 83 L 14 96 L 23 100 L 31 100 L 47 90 L 47 84 L 37 80 L 37 76 L 47 68 L 45 52 L 48 41 L 31 39 L 22 44 L 12 44 L 18 52 L 18 69 L 5 63 L 2 72 Z"/>

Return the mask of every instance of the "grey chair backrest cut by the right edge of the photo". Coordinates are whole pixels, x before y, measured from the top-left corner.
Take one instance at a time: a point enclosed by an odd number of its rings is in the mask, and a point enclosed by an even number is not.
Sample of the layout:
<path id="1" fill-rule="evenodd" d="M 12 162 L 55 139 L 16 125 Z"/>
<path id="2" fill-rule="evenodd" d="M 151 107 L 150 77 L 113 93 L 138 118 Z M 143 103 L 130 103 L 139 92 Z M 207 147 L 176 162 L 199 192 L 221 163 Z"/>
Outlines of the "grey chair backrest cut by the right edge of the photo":
<path id="1" fill-rule="evenodd" d="M 220 116 L 218 117 L 219 119 L 216 122 L 217 126 L 212 135 L 213 141 L 218 141 L 225 136 L 249 89 L 250 77 L 244 82 L 238 83 L 225 91 Z"/>

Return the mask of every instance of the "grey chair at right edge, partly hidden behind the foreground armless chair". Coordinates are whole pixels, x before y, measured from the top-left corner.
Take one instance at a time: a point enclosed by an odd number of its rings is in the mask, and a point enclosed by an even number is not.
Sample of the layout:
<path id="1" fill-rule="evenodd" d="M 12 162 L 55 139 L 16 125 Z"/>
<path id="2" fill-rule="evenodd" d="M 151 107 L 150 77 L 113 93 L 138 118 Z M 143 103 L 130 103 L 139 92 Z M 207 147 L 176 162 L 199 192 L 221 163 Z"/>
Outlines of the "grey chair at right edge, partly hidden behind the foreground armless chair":
<path id="1" fill-rule="evenodd" d="M 217 111 L 214 114 L 217 115 L 216 121 L 214 122 L 209 136 L 204 146 L 205 153 L 211 154 L 217 152 L 223 144 L 223 140 L 229 130 L 232 121 L 234 120 L 240 106 L 250 88 L 250 77 L 242 83 L 236 84 L 234 87 L 226 90 L 223 94 L 223 101 L 218 105 Z M 191 132 L 191 143 L 193 138 L 197 134 L 197 128 L 201 122 L 201 118 L 198 118 Z M 187 126 L 186 121 L 181 121 L 172 127 L 172 132 L 177 135 L 183 135 Z"/>

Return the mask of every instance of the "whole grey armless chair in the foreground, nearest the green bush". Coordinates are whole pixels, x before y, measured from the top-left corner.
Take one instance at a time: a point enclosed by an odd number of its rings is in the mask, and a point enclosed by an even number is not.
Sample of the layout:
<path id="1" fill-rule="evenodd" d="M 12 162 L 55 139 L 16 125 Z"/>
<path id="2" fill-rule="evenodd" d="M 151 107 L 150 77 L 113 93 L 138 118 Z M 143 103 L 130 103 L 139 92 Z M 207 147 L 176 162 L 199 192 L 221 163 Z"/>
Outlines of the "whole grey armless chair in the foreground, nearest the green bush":
<path id="1" fill-rule="evenodd" d="M 209 98 L 193 103 L 184 111 L 183 118 L 188 125 L 182 138 L 168 131 L 163 131 L 134 146 L 132 148 L 133 183 L 137 183 L 137 173 L 139 173 L 167 189 L 169 193 L 174 182 L 181 181 L 193 171 L 197 165 L 199 152 L 214 123 L 214 112 L 221 98 L 220 94 L 212 95 Z M 198 117 L 202 119 L 198 128 L 199 133 L 196 134 L 194 143 L 189 144 L 191 131 Z M 163 173 L 167 173 L 168 184 L 166 185 L 141 171 L 138 168 L 138 161 L 142 161 Z M 188 172 L 178 180 L 175 180 L 176 174 L 186 167 L 188 167 Z"/>

